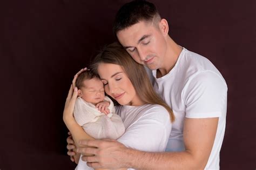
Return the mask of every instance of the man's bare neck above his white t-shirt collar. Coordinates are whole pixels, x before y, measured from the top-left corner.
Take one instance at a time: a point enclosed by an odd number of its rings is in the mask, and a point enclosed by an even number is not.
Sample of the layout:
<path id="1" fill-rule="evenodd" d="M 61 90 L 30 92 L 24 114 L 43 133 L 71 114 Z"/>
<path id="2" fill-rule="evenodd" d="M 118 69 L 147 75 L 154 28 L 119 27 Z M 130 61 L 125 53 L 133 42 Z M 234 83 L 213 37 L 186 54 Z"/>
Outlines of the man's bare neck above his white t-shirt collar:
<path id="1" fill-rule="evenodd" d="M 167 50 L 162 67 L 157 69 L 157 78 L 165 76 L 169 73 L 176 64 L 181 51 L 183 50 L 178 44 L 176 44 L 171 37 L 167 37 Z"/>

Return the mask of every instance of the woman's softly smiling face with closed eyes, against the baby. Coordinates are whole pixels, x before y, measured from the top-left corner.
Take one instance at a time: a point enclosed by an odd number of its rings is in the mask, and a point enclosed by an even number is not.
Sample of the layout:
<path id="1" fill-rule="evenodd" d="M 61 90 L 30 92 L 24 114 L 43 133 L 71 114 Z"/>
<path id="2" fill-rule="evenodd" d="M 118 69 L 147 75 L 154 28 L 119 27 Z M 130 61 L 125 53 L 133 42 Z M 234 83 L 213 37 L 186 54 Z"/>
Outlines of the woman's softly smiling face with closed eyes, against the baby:
<path id="1" fill-rule="evenodd" d="M 143 104 L 120 65 L 100 63 L 98 73 L 104 84 L 105 92 L 120 105 L 139 106 Z"/>

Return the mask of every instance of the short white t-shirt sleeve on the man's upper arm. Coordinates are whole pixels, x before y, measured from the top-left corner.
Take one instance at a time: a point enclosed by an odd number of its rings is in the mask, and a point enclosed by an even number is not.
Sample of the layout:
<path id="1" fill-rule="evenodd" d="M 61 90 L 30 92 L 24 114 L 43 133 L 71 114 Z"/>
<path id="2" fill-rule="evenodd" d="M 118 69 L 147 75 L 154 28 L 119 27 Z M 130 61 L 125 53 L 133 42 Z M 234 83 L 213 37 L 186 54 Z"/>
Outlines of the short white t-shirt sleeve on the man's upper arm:
<path id="1" fill-rule="evenodd" d="M 217 73 L 204 71 L 188 80 L 182 96 L 186 118 L 221 117 L 227 104 L 227 85 Z"/>

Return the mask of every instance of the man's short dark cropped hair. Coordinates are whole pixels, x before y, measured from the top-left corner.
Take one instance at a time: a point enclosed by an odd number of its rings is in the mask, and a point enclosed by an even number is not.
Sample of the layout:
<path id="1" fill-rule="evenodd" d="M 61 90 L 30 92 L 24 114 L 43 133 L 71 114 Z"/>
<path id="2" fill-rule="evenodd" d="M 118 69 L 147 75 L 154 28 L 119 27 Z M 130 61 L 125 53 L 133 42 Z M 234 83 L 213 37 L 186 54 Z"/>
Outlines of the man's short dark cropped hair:
<path id="1" fill-rule="evenodd" d="M 154 17 L 160 15 L 156 6 L 147 1 L 131 1 L 124 4 L 117 12 L 113 24 L 113 33 L 128 28 L 140 21 L 153 21 Z"/>

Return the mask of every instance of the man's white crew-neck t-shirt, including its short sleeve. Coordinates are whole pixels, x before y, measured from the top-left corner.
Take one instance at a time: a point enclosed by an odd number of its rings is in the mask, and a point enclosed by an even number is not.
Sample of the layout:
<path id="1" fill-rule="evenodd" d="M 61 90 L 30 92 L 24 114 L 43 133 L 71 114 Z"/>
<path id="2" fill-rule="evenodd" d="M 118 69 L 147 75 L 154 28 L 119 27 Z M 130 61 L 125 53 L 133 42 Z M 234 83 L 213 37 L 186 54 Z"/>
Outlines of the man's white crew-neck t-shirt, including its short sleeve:
<path id="1" fill-rule="evenodd" d="M 224 78 L 207 58 L 185 48 L 169 73 L 160 78 L 156 78 L 156 73 L 153 70 L 150 75 L 154 89 L 171 106 L 176 117 L 166 151 L 184 151 L 185 118 L 218 117 L 217 133 L 205 169 L 219 169 L 227 109 L 227 85 Z"/>

